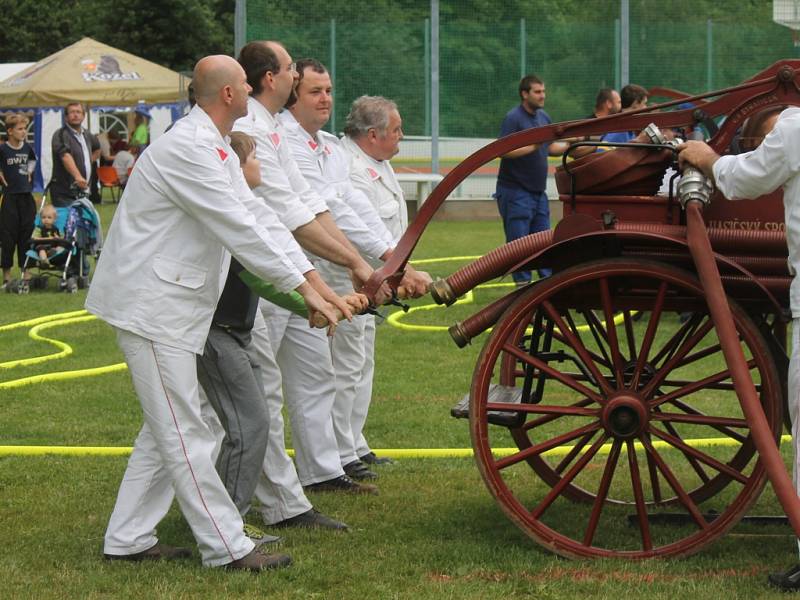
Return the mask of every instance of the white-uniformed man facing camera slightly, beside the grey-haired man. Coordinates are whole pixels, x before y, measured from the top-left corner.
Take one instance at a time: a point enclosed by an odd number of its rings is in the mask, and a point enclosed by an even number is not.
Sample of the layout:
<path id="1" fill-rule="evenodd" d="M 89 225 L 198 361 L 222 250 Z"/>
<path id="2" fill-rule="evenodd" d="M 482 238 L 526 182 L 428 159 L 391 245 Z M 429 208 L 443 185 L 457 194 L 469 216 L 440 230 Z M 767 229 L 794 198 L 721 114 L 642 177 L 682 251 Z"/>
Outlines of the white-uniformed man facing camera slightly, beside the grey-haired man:
<path id="1" fill-rule="evenodd" d="M 350 156 L 342 148 L 339 138 L 322 131 L 333 109 L 330 75 L 314 59 L 299 61 L 297 72 L 299 82 L 294 97 L 287 105 L 289 111 L 280 115 L 288 133 L 292 155 L 309 184 L 325 196 L 339 228 L 363 256 L 379 264 L 389 258 L 396 240 L 384 225 L 375 206 L 351 183 Z M 317 268 L 337 293 L 353 292 L 353 284 L 343 269 L 328 261 L 320 261 Z M 427 292 L 429 284 L 430 277 L 427 273 L 409 268 L 401 286 L 407 291 L 407 295 L 419 297 Z M 361 436 L 370 395 L 365 398 L 367 406 L 356 408 L 357 403 L 364 400 L 359 397 L 359 392 L 364 383 L 367 363 L 365 347 L 371 349 L 365 338 L 368 320 L 373 321 L 373 317 L 361 315 L 352 322 L 343 323 L 336 335 L 329 340 L 336 372 L 333 427 L 342 467 L 345 473 L 356 480 L 377 477 L 376 473 L 359 460 L 355 444 L 355 440 Z M 372 363 L 371 356 L 369 360 Z M 371 370 L 367 376 L 371 376 Z"/>

